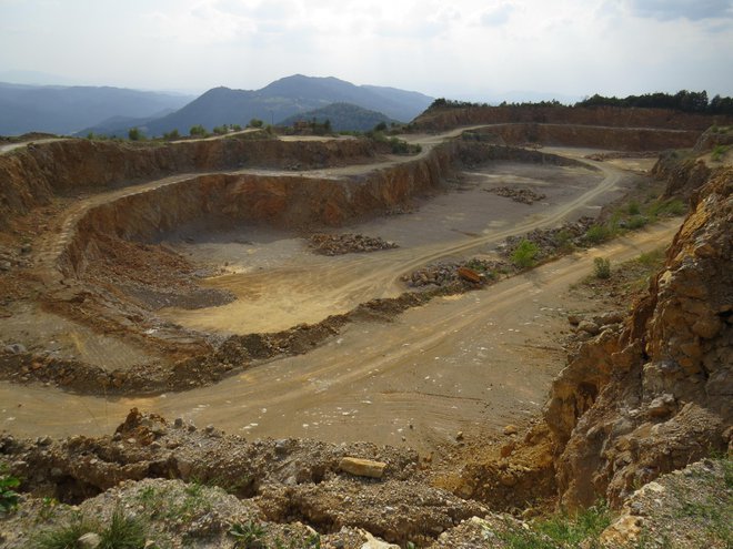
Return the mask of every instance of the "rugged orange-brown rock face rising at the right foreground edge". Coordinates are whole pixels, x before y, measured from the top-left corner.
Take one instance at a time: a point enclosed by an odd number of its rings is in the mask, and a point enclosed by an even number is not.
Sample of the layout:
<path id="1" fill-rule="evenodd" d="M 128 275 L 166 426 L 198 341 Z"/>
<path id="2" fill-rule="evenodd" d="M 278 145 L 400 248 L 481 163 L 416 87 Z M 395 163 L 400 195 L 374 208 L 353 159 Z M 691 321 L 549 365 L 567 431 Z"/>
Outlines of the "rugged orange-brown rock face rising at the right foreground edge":
<path id="1" fill-rule="evenodd" d="M 545 420 L 568 507 L 634 487 L 731 444 L 733 418 L 733 170 L 719 170 L 620 331 L 572 357 Z"/>

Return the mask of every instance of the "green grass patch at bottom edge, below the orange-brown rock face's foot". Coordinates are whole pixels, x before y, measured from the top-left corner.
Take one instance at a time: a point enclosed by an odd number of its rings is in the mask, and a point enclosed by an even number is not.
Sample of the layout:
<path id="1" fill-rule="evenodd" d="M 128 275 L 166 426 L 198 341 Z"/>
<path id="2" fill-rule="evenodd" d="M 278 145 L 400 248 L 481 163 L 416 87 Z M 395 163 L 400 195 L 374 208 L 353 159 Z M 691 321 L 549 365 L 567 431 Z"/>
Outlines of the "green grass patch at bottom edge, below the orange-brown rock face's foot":
<path id="1" fill-rule="evenodd" d="M 565 512 L 534 522 L 530 529 L 510 528 L 499 537 L 511 549 L 571 549 L 600 547 L 601 532 L 611 525 L 604 504 L 570 516 Z"/>

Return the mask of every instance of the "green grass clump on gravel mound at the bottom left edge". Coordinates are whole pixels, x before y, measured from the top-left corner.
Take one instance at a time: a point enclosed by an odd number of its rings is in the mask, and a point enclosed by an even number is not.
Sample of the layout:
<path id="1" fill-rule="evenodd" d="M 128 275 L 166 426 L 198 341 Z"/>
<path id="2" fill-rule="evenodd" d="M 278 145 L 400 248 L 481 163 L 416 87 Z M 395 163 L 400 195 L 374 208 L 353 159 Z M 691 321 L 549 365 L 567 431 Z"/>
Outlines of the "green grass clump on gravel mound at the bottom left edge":
<path id="1" fill-rule="evenodd" d="M 142 549 L 145 547 L 148 528 L 141 519 L 124 516 L 120 510 L 112 514 L 112 518 L 104 527 L 77 515 L 66 525 L 40 532 L 36 537 L 36 547 L 76 549 L 81 547 L 79 538 L 86 533 L 99 536 L 98 549 Z"/>

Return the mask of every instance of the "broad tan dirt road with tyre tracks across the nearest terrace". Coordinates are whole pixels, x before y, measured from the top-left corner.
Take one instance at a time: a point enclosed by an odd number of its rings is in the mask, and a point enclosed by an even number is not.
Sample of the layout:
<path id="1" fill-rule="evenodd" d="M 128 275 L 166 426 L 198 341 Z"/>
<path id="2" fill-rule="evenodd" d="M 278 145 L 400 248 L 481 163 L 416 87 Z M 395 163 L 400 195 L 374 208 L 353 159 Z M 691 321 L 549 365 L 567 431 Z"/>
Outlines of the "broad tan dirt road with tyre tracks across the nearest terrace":
<path id="1" fill-rule="evenodd" d="M 248 436 L 408 444 L 426 453 L 538 411 L 564 365 L 556 334 L 582 307 L 563 291 L 592 260 L 614 263 L 670 242 L 679 221 L 543 265 L 486 289 L 436 299 L 390 324 L 354 324 L 308 355 L 218 385 L 153 398 L 80 397 L 0 383 L 0 427 L 17 435 L 109 433 L 133 406 Z"/>

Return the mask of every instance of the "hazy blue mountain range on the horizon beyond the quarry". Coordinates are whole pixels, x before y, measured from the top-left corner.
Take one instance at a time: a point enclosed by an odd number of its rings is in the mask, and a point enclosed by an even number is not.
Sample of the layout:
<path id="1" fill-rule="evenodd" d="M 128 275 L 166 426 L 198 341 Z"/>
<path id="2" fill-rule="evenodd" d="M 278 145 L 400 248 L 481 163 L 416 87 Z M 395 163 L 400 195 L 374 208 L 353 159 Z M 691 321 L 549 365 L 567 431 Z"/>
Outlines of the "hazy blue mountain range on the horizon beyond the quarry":
<path id="1" fill-rule="evenodd" d="M 109 87 L 30 85 L 0 82 L 0 135 L 38 131 L 56 134 L 98 133 L 127 136 L 139 128 L 148 136 L 171 130 L 189 133 L 193 125 L 208 130 L 222 124 L 245 125 L 252 119 L 268 124 L 323 109 L 333 103 L 354 108 L 332 112 L 334 128 L 360 130 L 369 120 L 409 122 L 433 98 L 378 85 L 354 85 L 333 77 L 295 74 L 260 90 L 213 88 L 202 95 L 138 91 Z M 357 110 L 374 111 L 366 115 Z M 350 121 L 348 113 L 353 114 Z M 319 118 L 320 113 L 315 114 Z M 355 125 L 354 125 L 355 124 Z M 373 126 L 373 124 L 372 124 Z M 371 126 L 370 126 L 371 128 Z"/>

